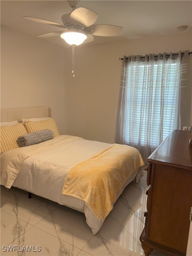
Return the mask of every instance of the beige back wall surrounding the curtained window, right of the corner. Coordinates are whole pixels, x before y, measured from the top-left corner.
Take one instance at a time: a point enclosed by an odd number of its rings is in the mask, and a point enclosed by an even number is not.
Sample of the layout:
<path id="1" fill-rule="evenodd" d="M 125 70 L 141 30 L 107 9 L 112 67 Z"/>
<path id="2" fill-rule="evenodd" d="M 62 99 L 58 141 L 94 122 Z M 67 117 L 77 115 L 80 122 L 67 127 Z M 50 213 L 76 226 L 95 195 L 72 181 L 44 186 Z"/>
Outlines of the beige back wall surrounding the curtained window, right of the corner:
<path id="1" fill-rule="evenodd" d="M 67 133 L 114 143 L 121 69 L 119 57 L 187 49 L 192 50 L 191 33 L 76 47 L 74 78 L 71 53 L 68 53 Z M 192 60 L 192 55 L 189 59 Z M 191 66 L 189 71 L 191 76 Z M 190 110 L 186 111 L 190 115 Z"/>

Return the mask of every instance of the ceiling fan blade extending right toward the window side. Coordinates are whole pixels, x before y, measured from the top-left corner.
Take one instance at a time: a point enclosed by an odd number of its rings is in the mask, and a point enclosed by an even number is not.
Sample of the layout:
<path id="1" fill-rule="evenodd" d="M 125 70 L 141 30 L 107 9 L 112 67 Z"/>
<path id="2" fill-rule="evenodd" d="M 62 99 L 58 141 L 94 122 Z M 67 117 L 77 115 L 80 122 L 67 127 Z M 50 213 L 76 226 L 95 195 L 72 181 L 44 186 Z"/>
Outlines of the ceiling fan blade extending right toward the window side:
<path id="1" fill-rule="evenodd" d="M 123 32 L 123 28 L 115 25 L 91 25 L 84 28 L 86 33 L 90 33 L 95 36 L 120 36 Z"/>

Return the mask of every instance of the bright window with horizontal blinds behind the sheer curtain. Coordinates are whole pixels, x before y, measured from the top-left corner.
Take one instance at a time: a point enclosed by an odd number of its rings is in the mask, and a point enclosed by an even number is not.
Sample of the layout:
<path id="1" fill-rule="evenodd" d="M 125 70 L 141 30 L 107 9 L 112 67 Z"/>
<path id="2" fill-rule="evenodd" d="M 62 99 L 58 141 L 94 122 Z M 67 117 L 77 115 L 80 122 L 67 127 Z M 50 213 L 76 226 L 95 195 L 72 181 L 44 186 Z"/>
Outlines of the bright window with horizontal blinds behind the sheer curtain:
<path id="1" fill-rule="evenodd" d="M 125 120 L 127 144 L 137 145 L 140 137 L 140 144 L 145 145 L 146 133 L 150 129 L 147 143 L 157 147 L 175 129 L 179 95 L 178 69 L 180 63 L 174 60 L 164 67 L 163 63 L 153 66 L 142 62 L 137 66 L 129 65 Z M 162 72 L 165 73 L 163 79 L 166 81 L 163 85 Z"/>

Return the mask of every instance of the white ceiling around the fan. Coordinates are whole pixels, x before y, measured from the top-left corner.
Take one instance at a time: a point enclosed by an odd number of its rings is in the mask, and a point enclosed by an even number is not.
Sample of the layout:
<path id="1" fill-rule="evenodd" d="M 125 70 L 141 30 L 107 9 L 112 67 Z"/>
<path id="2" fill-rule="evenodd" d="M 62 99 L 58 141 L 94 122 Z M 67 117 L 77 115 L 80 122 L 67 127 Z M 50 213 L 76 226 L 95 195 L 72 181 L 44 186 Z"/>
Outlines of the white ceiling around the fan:
<path id="1" fill-rule="evenodd" d="M 33 16 L 61 23 L 61 16 L 70 13 L 71 8 L 63 0 L 1 0 L 1 24 L 32 36 L 62 29 L 25 20 L 23 16 Z M 190 0 L 87 0 L 80 1 L 78 7 L 85 7 L 99 14 L 95 24 L 112 24 L 123 27 L 118 37 L 94 36 L 88 44 L 108 43 L 125 39 L 147 36 L 172 35 L 188 33 L 192 30 L 192 1 Z M 180 25 L 188 25 L 186 31 L 177 29 Z M 67 43 L 60 36 L 39 38 L 66 47 Z"/>

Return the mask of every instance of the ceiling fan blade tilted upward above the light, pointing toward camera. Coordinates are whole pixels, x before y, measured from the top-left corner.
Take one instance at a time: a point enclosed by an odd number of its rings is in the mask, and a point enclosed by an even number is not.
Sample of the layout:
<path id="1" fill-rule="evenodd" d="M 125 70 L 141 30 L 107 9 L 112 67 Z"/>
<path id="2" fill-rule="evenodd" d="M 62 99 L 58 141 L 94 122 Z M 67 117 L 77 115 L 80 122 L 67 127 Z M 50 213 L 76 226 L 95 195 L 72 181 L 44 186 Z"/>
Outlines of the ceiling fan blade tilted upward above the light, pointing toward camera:
<path id="1" fill-rule="evenodd" d="M 71 13 L 70 18 L 78 21 L 84 27 L 88 27 L 96 22 L 98 14 L 87 8 L 79 7 Z"/>

